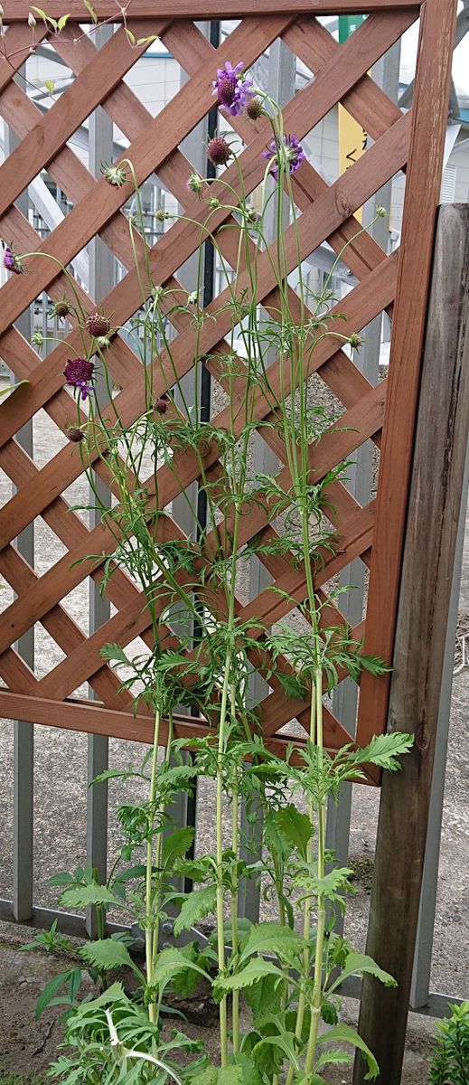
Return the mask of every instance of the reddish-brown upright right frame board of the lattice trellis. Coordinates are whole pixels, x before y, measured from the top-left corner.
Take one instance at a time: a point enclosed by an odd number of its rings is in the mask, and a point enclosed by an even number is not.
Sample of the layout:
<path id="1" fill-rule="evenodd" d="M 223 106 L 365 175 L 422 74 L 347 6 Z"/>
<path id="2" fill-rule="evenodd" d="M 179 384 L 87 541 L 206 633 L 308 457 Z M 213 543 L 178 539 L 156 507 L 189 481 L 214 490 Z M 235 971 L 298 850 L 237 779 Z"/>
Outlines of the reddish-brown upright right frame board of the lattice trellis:
<path id="1" fill-rule="evenodd" d="M 364 648 L 365 652 L 380 655 L 388 663 L 392 659 L 395 634 L 455 25 L 456 4 L 426 0 L 414 91 L 411 150 Z M 373 733 L 376 719 L 385 716 L 389 686 L 388 675 L 379 679 L 363 676 L 358 710 L 362 743 Z"/>

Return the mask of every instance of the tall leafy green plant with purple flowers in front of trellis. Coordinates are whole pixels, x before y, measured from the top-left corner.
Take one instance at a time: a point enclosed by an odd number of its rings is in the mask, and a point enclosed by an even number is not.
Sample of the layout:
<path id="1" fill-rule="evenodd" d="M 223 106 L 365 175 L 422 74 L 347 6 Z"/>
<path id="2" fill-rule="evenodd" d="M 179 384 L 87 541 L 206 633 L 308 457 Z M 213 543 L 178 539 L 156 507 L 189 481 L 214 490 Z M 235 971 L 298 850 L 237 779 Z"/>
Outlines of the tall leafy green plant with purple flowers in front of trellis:
<path id="1" fill-rule="evenodd" d="M 189 178 L 189 189 L 201 201 L 192 217 L 180 216 L 200 230 L 198 281 L 191 294 L 174 282 L 165 286 L 152 278 L 131 162 L 123 159 L 104 168 L 111 184 L 121 186 L 130 178 L 136 193 L 129 244 L 141 308 L 125 330 L 142 362 L 144 408 L 131 425 L 122 422 L 106 347 L 101 336 L 94 335 L 107 318 L 103 314 L 101 321 L 89 321 L 76 285 L 62 268 L 74 297 L 73 316 L 83 354 L 65 367 L 66 382 L 77 400 L 77 420 L 72 427 L 74 436 L 68 431 L 69 439 L 77 443 L 77 455 L 93 490 L 93 508 L 111 536 L 107 553 L 86 560 L 99 560 L 103 565 L 103 590 L 112 587 L 116 570 L 137 579 L 148 613 L 148 654 L 130 658 L 118 644 L 109 644 L 102 654 L 125 668 L 121 689 L 130 690 L 136 707 L 142 703 L 154 717 L 153 746 L 141 773 L 135 774 L 147 786 L 148 794 L 140 803 L 119 808 L 124 844 L 106 885 L 99 885 L 94 872 L 91 886 L 75 877 L 61 897 L 67 907 L 98 906 L 99 937 L 80 953 L 103 986 L 107 973 L 124 965 L 137 981 L 131 997 L 119 983 L 112 983 L 98 998 L 78 1005 L 78 980 L 67 979 L 74 986 L 73 997 L 69 990 L 61 996 L 68 1006 L 67 1050 L 54 1068 L 66 1085 L 96 1081 L 130 1085 L 155 1078 L 163 1082 L 165 1076 L 176 1081 L 185 1077 L 198 1085 L 277 1085 L 282 1073 L 288 1085 L 320 1085 L 324 1068 L 350 1061 L 342 1044 L 363 1051 L 371 1080 L 378 1073 L 372 1054 L 354 1030 L 339 1022 L 339 988 L 353 973 L 371 972 L 384 983 L 394 982 L 334 933 L 333 909 L 345 908 L 350 870 L 334 865 L 325 841 L 328 797 L 337 797 L 343 781 L 363 778 L 364 765 L 397 769 L 398 756 L 411 745 L 408 736 L 386 735 L 375 737 L 365 750 L 350 744 L 330 756 L 324 741 L 324 694 L 330 694 L 346 675 L 358 680 L 364 668 L 377 676 L 385 669 L 380 660 L 363 654 L 337 605 L 340 591 L 326 597 L 318 584 L 326 580 L 324 570 L 337 552 L 337 536 L 325 519 L 329 513 L 334 520 L 333 488 L 341 484 L 347 464 L 315 472 L 324 433 L 331 427 L 340 431 L 340 422 L 310 403 L 314 357 L 329 337 L 352 347 L 358 345 L 359 337 L 338 330 L 341 315 L 330 308 L 333 269 L 313 309 L 306 304 L 291 181 L 304 158 L 297 139 L 283 131 L 276 103 L 261 92 L 254 95 L 251 82 L 243 79 L 242 65 L 227 65 L 214 84 L 220 106 L 231 116 L 244 108 L 257 119 L 269 116 L 272 140 L 264 154 L 267 163 L 259 213 L 254 214 L 249 205 L 241 166 L 224 137 L 212 141 L 208 153 L 218 163 L 232 158 L 233 177 L 229 175 L 227 180 L 221 176 L 213 182 L 215 189 L 198 175 Z M 267 189 L 269 175 L 276 181 L 272 191 Z M 291 243 L 286 241 L 284 192 L 292 219 L 288 231 Z M 276 229 L 269 248 L 265 221 L 272 200 Z M 200 304 L 206 242 L 216 250 L 226 279 L 226 289 L 208 310 Z M 288 281 L 291 248 L 300 277 L 293 298 Z M 272 280 L 264 312 L 257 303 L 261 275 Z M 174 348 L 168 321 L 178 331 L 193 333 L 193 408 L 187 403 L 181 380 L 190 367 Z M 218 342 L 215 335 L 207 347 L 205 328 L 214 326 L 217 331 L 217 324 Z M 117 327 L 113 329 L 114 334 L 117 331 Z M 243 345 L 242 356 L 237 341 Z M 214 354 L 208 353 L 212 347 Z M 269 369 L 272 350 L 278 362 Z M 94 356 L 98 362 L 91 360 Z M 215 423 L 200 419 L 199 383 L 204 365 L 214 367 L 227 394 L 221 421 Z M 102 396 L 94 394 L 99 372 L 107 393 L 104 407 Z M 265 401 L 262 422 L 256 417 L 259 398 Z M 89 405 L 87 417 L 85 403 Z M 252 473 L 255 432 L 267 441 L 272 436 L 276 447 L 281 448 L 284 468 L 277 477 Z M 149 458 L 151 471 L 142 480 Z M 97 469 L 107 480 L 115 502 L 104 501 L 94 480 Z M 199 507 L 191 505 L 187 488 L 195 478 L 206 502 L 206 523 L 201 522 Z M 186 538 L 166 512 L 179 492 L 193 516 L 194 538 Z M 280 525 L 277 532 L 276 522 Z M 288 625 L 270 631 L 265 620 L 256 615 L 243 620 L 237 577 L 241 560 L 252 556 L 267 562 L 269 558 L 287 561 L 289 567 L 303 574 L 306 590 L 300 598 L 293 590 L 271 588 L 284 613 L 296 609 L 306 629 L 301 636 Z M 309 705 L 308 740 L 303 748 L 289 748 L 283 760 L 268 749 L 259 732 L 257 707 L 249 697 L 254 667 L 271 686 L 279 685 L 287 697 L 303 705 L 300 712 Z M 173 740 L 173 717 L 180 705 L 201 711 L 212 725 L 206 738 Z M 165 720 L 166 756 L 159 765 Z M 183 764 L 182 748 L 191 751 L 191 764 Z M 126 778 L 132 771 L 111 769 L 99 780 Z M 177 789 L 190 790 L 197 777 L 214 782 L 216 847 L 214 854 L 188 858 L 191 833 L 176 830 L 167 837 L 164 830 L 172 828 L 170 803 Z M 305 812 L 296 808 L 296 795 Z M 249 818 L 259 808 L 264 815 L 263 857 L 249 868 L 240 858 L 241 804 Z M 223 824 L 226 805 L 230 812 L 228 847 Z M 142 847 L 143 861 L 135 863 Z M 173 884 L 175 876 L 191 879 L 198 888 L 189 894 L 178 892 Z M 239 885 L 245 877 L 264 884 L 268 901 L 276 902 L 278 922 L 238 921 Z M 116 905 L 127 909 L 130 920 L 144 931 L 142 969 L 132 960 L 128 940 L 105 937 L 105 912 Z M 203 953 L 197 940 L 185 948 L 160 949 L 162 920 L 169 909 L 177 911 L 176 936 L 215 912 L 215 931 Z M 165 993 L 167 996 L 172 988 L 190 991 L 200 975 L 212 983 L 219 1004 L 220 1067 L 210 1064 L 200 1048 L 194 1049 L 180 1033 L 169 1043 L 162 1038 Z M 252 1014 L 246 1034 L 240 1027 L 241 992 Z M 325 1033 L 319 1033 L 320 1019 L 330 1026 Z M 173 1062 L 175 1045 L 186 1050 L 189 1059 L 177 1069 Z M 330 1045 L 335 1046 L 331 1049 Z"/>

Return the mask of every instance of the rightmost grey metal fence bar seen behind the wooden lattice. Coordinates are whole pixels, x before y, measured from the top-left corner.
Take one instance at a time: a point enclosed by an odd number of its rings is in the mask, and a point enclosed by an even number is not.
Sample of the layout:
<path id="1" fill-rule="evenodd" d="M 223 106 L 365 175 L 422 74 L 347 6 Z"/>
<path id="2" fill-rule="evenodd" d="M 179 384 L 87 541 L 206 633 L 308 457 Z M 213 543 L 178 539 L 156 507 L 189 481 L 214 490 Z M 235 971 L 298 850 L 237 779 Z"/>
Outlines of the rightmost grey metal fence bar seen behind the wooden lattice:
<path id="1" fill-rule="evenodd" d="M 392 101 L 396 101 L 397 99 L 400 61 L 401 42 L 396 42 L 385 56 L 378 61 L 372 73 L 373 80 L 378 84 L 378 86 L 383 88 Z M 392 182 L 390 181 L 379 193 L 377 193 L 373 200 L 368 201 L 364 210 L 364 224 L 366 225 L 367 221 L 372 221 L 375 218 L 375 208 L 377 206 L 385 207 L 388 212 L 386 217 L 378 218 L 372 229 L 375 240 L 381 245 L 384 252 L 389 251 L 389 213 L 391 210 L 391 202 Z M 344 261 L 346 264 L 346 253 L 344 254 Z M 365 332 L 364 348 L 354 359 L 357 366 L 365 373 L 365 376 L 371 381 L 371 384 L 377 384 L 379 379 L 381 320 L 381 317 L 377 317 L 370 324 L 368 324 Z M 360 505 L 365 505 L 369 500 L 371 482 L 371 448 L 370 443 L 366 442 L 366 444 L 362 445 L 362 447 L 357 450 L 355 455 L 355 462 L 348 470 L 348 488 Z M 351 626 L 354 626 L 362 621 L 363 616 L 365 597 L 365 566 L 363 562 L 358 559 L 353 561 L 351 565 L 341 574 L 340 584 L 341 587 L 347 587 L 351 589 L 345 596 L 343 596 L 341 610 Z M 355 731 L 357 693 L 358 691 L 355 682 L 351 679 L 346 679 L 341 682 L 333 695 L 334 714 L 351 732 L 351 735 Z M 338 860 L 341 864 L 346 864 L 348 858 L 351 809 L 352 784 L 346 783 L 341 789 L 339 803 L 335 804 L 332 801 L 329 801 L 327 815 L 327 847 L 335 853 Z M 342 929 L 343 917 L 338 910 L 335 930 L 340 932 Z"/>

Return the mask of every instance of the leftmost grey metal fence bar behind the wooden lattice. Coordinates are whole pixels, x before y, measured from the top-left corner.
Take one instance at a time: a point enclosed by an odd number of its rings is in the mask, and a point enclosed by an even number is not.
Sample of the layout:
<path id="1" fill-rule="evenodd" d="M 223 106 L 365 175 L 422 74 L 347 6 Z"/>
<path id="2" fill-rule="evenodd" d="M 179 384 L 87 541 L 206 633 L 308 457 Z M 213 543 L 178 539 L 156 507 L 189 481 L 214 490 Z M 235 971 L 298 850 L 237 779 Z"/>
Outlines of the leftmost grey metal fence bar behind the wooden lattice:
<path id="1" fill-rule="evenodd" d="M 15 132 L 5 125 L 5 158 L 18 145 Z M 16 207 L 28 218 L 28 193 L 15 201 Z M 26 340 L 31 336 L 31 310 L 15 321 L 15 327 Z M 33 456 L 33 421 L 20 430 L 17 442 L 28 456 Z M 34 567 L 35 528 L 28 524 L 16 539 L 16 548 Z M 35 665 L 34 627 L 20 637 L 17 651 L 31 669 Z M 33 915 L 34 881 L 34 726 L 15 719 L 13 724 L 13 915 L 17 922 Z"/>

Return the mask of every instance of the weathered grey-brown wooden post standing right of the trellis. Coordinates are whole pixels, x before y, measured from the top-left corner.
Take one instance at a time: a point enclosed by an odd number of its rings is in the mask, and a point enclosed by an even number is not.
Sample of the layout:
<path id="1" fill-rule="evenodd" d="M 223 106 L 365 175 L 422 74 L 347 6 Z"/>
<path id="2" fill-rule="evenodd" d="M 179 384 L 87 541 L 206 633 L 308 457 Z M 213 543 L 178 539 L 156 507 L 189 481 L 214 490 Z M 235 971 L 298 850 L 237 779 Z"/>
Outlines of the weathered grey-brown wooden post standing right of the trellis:
<path id="1" fill-rule="evenodd" d="M 418 288 L 417 288 L 418 289 Z M 363 984 L 359 1033 L 400 1085 L 423 871 L 434 742 L 469 432 L 469 206 L 439 212 L 390 697 L 410 731 L 403 770 L 384 775 L 367 953 L 397 980 Z M 354 1085 L 366 1069 L 355 1061 Z"/>

